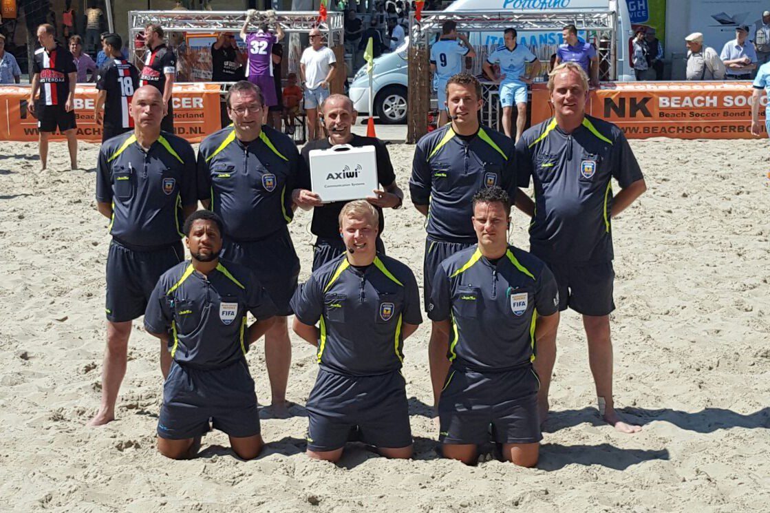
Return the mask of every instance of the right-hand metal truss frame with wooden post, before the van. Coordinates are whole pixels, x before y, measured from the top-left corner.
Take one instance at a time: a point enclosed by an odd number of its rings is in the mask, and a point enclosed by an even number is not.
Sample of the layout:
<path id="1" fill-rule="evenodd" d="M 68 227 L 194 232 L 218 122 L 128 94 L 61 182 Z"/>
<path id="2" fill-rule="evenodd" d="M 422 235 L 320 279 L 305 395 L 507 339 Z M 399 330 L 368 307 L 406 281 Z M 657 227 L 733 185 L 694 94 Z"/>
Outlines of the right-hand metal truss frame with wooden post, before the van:
<path id="1" fill-rule="evenodd" d="M 414 12 L 409 15 L 409 111 L 407 142 L 417 142 L 427 132 L 425 113 L 430 110 L 430 43 L 441 33 L 447 20 L 457 22 L 458 32 L 499 33 L 516 28 L 519 35 L 527 32 L 561 32 L 565 25 L 575 25 L 585 32 L 588 41 L 596 43 L 599 55 L 600 77 L 618 78 L 618 14 L 611 9 L 559 9 L 551 11 L 437 11 L 423 12 L 417 21 Z M 495 42 L 494 46 L 500 43 Z M 484 43 L 480 45 L 484 50 Z M 485 52 L 476 48 L 474 72 L 480 72 Z M 480 54 L 480 55 L 478 55 Z M 541 61 L 543 56 L 538 56 Z M 547 62 L 546 62 L 547 64 Z M 548 66 L 543 66 L 547 71 Z M 491 96 L 491 95 L 490 95 Z M 440 106 L 439 106 L 440 107 Z M 491 111 L 490 111 L 491 112 Z M 497 109 L 495 109 L 497 112 Z"/>

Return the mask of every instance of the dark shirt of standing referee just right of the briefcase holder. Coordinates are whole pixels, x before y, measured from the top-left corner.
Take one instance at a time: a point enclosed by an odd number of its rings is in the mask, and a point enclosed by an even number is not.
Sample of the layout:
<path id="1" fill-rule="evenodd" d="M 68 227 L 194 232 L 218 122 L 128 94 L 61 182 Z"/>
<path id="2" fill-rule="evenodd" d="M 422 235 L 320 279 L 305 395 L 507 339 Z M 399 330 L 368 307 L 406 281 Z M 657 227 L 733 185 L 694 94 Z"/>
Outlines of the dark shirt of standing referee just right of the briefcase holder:
<path id="1" fill-rule="evenodd" d="M 480 126 L 474 136 L 458 136 L 451 124 L 417 142 L 409 190 L 415 205 L 430 205 L 427 233 L 434 240 L 475 243 L 473 196 L 483 187 L 516 192 L 514 142 Z"/>

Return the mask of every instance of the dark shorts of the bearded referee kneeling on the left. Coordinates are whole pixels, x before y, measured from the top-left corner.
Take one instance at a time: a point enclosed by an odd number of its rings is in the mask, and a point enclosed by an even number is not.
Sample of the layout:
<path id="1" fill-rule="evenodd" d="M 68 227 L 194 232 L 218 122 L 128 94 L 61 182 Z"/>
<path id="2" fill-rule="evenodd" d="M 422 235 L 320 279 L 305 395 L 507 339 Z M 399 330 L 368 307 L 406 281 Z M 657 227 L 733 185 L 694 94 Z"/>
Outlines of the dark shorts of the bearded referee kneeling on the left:
<path id="1" fill-rule="evenodd" d="M 214 429 L 231 437 L 259 434 L 254 380 L 246 359 L 220 369 L 200 369 L 174 361 L 163 384 L 157 433 L 184 440 Z"/>

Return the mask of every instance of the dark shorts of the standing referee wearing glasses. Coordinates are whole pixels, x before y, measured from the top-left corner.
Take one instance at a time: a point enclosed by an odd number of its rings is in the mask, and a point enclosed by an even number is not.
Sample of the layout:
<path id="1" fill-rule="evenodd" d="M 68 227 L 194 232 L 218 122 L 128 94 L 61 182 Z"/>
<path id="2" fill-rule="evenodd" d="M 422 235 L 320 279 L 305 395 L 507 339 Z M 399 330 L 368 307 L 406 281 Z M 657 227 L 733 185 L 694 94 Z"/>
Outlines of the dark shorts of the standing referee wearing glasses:
<path id="1" fill-rule="evenodd" d="M 222 257 L 256 274 L 278 309 L 276 315 L 293 314 L 289 302 L 300 276 L 300 259 L 286 227 L 260 240 L 225 239 Z"/>

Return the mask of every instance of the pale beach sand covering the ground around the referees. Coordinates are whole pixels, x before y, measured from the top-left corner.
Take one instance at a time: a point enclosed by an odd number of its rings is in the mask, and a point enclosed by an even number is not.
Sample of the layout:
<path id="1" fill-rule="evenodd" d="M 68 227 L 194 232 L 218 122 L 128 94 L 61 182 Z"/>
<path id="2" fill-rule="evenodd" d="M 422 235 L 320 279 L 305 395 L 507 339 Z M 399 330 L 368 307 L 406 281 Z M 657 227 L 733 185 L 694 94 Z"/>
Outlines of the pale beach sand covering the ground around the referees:
<path id="1" fill-rule="evenodd" d="M 581 321 L 558 338 L 553 412 L 536 469 L 437 458 L 429 327 L 407 340 L 413 461 L 362 448 L 339 466 L 310 461 L 306 417 L 263 415 L 267 447 L 239 461 L 209 434 L 193 461 L 156 453 L 158 343 L 135 323 L 117 421 L 86 428 L 99 405 L 107 220 L 95 173 L 40 173 L 35 144 L 0 145 L 0 510 L 2 511 L 768 511 L 770 504 L 770 187 L 767 142 L 633 142 L 648 192 L 614 221 L 615 395 L 634 436 L 602 424 Z M 95 166 L 98 146 L 82 144 Z M 390 146 L 406 189 L 413 146 Z M 407 200 L 407 205 L 410 202 Z M 310 270 L 309 213 L 291 225 Z M 513 241 L 527 248 L 526 220 Z M 422 283 L 423 222 L 387 212 L 388 252 Z M 313 347 L 293 336 L 289 399 L 304 404 Z M 261 341 L 249 353 L 269 398 Z"/>

